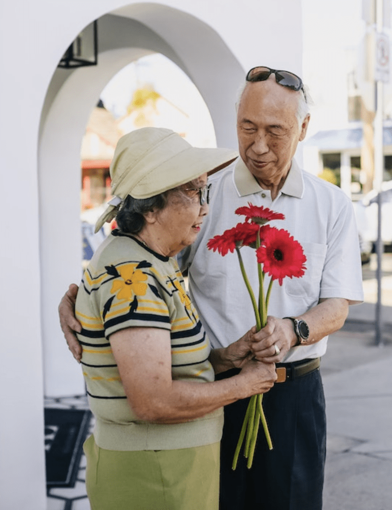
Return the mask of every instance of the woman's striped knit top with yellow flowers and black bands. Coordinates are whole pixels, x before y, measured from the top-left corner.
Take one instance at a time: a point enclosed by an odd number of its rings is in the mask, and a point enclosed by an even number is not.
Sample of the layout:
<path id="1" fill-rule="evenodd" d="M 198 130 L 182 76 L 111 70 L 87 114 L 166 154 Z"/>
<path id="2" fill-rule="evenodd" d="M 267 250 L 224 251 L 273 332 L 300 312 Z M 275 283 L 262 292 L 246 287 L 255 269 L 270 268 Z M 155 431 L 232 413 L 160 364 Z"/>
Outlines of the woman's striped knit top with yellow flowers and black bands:
<path id="1" fill-rule="evenodd" d="M 167 329 L 173 380 L 214 380 L 208 361 L 210 342 L 184 290 L 175 259 L 113 231 L 84 272 L 75 309 L 83 327 L 78 338 L 98 446 L 122 451 L 163 450 L 220 441 L 222 409 L 187 423 L 139 420 L 126 400 L 110 345 L 110 335 L 123 328 Z"/>

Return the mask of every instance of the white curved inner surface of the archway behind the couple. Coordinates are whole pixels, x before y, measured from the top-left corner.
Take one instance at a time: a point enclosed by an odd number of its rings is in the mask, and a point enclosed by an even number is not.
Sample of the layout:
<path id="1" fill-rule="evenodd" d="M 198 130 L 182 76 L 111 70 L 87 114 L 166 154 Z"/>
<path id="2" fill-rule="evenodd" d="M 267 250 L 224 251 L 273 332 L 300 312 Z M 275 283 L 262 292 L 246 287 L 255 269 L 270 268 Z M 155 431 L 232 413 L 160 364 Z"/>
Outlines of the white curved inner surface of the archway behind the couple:
<path id="1" fill-rule="evenodd" d="M 210 110 L 218 145 L 236 147 L 234 100 L 244 71 L 221 37 L 190 14 L 132 4 L 98 19 L 98 65 L 57 69 L 42 110 L 39 200 L 45 394 L 84 392 L 57 320 L 67 284 L 81 278 L 80 145 L 89 113 L 112 76 L 159 52 L 184 70 Z M 121 15 L 118 15 L 121 14 Z"/>

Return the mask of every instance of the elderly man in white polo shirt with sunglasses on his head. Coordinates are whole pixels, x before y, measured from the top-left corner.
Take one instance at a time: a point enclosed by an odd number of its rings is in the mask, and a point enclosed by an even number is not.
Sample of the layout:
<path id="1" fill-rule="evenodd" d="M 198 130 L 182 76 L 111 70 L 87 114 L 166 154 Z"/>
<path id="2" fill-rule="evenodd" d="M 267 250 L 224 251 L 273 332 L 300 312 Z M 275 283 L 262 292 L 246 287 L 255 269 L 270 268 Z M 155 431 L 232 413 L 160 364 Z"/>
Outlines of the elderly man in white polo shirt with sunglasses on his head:
<path id="1" fill-rule="evenodd" d="M 303 172 L 295 162 L 309 110 L 302 81 L 288 71 L 251 69 L 238 105 L 240 158 L 212 182 L 210 214 L 195 244 L 181 259 L 188 268 L 192 298 L 214 347 L 255 323 L 237 256 L 222 258 L 208 239 L 239 221 L 234 211 L 251 202 L 284 220 L 272 222 L 301 243 L 306 271 L 275 285 L 258 359 L 278 363 L 279 381 L 264 395 L 273 450 L 262 431 L 251 469 L 243 458 L 231 470 L 247 400 L 225 408 L 221 445 L 221 510 L 320 510 L 324 478 L 326 419 L 318 366 L 327 337 L 341 328 L 348 305 L 363 299 L 361 266 L 351 201 L 337 187 Z M 250 282 L 257 285 L 254 250 L 242 250 Z M 72 291 L 63 298 L 61 314 Z M 68 324 L 74 327 L 74 323 Z M 64 324 L 68 344 L 77 346 Z M 223 374 L 229 376 L 230 373 Z"/>

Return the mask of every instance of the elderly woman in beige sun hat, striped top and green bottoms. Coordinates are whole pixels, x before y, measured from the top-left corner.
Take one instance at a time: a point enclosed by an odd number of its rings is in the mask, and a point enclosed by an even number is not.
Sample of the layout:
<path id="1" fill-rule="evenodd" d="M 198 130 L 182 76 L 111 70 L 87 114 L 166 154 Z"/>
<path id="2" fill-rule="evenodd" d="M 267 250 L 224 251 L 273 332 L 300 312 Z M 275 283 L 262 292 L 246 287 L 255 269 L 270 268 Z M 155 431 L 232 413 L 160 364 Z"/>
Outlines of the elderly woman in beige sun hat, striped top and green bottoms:
<path id="1" fill-rule="evenodd" d="M 218 508 L 222 406 L 276 378 L 251 359 L 250 332 L 211 350 L 173 258 L 208 212 L 207 171 L 235 157 L 164 129 L 118 142 L 115 198 L 97 223 L 116 215 L 118 230 L 94 253 L 75 305 L 96 420 L 84 445 L 92 510 Z M 242 370 L 214 381 L 232 367 Z"/>

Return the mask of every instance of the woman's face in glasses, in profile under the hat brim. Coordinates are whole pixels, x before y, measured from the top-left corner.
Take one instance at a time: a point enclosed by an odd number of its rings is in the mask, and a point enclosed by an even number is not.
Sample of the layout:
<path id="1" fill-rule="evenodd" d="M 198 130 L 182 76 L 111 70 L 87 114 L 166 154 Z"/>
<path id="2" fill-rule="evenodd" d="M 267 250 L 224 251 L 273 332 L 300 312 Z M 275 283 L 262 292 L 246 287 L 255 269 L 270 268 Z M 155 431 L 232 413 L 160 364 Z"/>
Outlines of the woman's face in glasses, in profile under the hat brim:
<path id="1" fill-rule="evenodd" d="M 207 183 L 207 174 L 179 186 L 169 193 L 167 206 L 156 213 L 162 239 L 166 239 L 170 256 L 192 244 L 200 232 L 203 218 L 208 214 L 205 201 L 200 205 L 200 191 Z M 190 188 L 192 188 L 190 190 Z"/>

